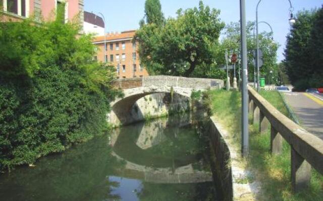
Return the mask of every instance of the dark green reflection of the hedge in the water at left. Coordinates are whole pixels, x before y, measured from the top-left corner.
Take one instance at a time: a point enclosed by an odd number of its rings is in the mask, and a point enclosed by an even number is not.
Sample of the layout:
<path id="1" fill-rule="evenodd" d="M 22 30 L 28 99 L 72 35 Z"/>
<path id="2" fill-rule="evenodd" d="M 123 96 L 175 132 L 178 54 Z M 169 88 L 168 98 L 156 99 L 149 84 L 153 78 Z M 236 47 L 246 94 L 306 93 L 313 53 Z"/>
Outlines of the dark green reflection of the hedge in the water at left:
<path id="1" fill-rule="evenodd" d="M 113 200 L 107 175 L 122 165 L 111 156 L 107 136 L 40 159 L 36 167 L 17 168 L 0 177 L 3 200 Z"/>

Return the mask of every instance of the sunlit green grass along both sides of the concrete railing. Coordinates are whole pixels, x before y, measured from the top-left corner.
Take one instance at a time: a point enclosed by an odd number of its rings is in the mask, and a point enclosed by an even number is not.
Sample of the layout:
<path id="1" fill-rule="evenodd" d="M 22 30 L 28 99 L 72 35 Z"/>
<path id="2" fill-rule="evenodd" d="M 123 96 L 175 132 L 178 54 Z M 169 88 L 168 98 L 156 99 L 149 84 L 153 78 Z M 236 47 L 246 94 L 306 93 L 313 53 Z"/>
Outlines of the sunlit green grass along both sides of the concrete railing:
<path id="1" fill-rule="evenodd" d="M 277 91 L 261 91 L 260 94 L 285 116 L 289 116 L 282 97 Z M 233 135 L 235 143 L 241 142 L 241 94 L 237 91 L 214 90 L 211 95 L 211 110 L 220 123 Z M 254 169 L 261 182 L 262 193 L 258 200 L 322 200 L 323 176 L 312 171 L 310 187 L 293 194 L 290 182 L 290 146 L 283 143 L 283 153 L 270 153 L 270 129 L 265 134 L 258 132 L 259 125 L 249 126 L 250 156 L 247 166 Z"/>

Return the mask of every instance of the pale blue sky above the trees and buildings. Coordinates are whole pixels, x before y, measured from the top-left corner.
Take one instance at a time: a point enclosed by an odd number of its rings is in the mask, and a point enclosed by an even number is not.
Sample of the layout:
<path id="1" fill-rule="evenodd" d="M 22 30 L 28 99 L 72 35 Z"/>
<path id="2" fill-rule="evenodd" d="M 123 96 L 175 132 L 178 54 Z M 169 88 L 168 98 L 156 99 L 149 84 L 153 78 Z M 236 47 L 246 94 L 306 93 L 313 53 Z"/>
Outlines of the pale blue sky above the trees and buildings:
<path id="1" fill-rule="evenodd" d="M 258 0 L 246 0 L 247 21 L 256 20 L 256 6 Z M 160 0 L 161 10 L 166 18 L 176 17 L 180 8 L 188 9 L 198 7 L 199 0 Z M 240 20 L 240 1 L 230 0 L 204 0 L 204 5 L 221 10 L 220 18 L 226 24 Z M 294 15 L 298 11 L 320 8 L 323 0 L 291 0 Z M 93 13 L 102 13 L 106 20 L 107 32 L 122 32 L 139 28 L 139 21 L 144 16 L 145 0 L 85 0 L 84 10 Z M 269 23 L 274 32 L 275 42 L 280 44 L 278 61 L 284 59 L 286 36 L 289 33 L 290 5 L 288 0 L 262 0 L 258 8 L 258 20 Z M 261 23 L 259 32 L 270 32 L 270 28 Z"/>

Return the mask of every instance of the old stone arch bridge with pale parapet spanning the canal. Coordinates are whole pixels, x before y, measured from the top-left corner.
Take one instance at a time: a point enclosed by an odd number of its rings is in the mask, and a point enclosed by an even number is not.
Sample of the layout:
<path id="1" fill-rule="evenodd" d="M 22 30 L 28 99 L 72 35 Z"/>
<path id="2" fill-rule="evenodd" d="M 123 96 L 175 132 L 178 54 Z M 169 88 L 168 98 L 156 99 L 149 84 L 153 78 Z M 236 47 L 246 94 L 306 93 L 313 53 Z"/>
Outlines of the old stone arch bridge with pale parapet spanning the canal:
<path id="1" fill-rule="evenodd" d="M 171 93 L 190 100 L 193 90 L 222 88 L 224 81 L 220 79 L 187 78 L 175 76 L 149 76 L 133 79 L 118 79 L 114 86 L 123 90 L 123 97 L 111 103 L 112 112 L 107 121 L 115 126 L 131 124 L 143 120 L 131 113 L 137 100 L 155 93 Z"/>

